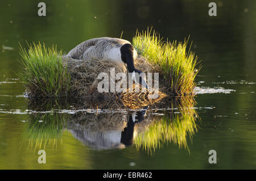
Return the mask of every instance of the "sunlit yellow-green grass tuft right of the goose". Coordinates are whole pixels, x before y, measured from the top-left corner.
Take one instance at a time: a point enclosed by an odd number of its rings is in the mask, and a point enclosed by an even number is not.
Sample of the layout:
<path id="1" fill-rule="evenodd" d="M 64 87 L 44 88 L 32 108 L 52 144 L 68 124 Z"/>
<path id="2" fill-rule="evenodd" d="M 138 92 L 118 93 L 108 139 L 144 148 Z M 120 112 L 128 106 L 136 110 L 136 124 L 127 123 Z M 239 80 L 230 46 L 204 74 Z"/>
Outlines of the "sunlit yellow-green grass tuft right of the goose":
<path id="1" fill-rule="evenodd" d="M 187 51 L 188 40 L 184 43 L 176 41 L 164 42 L 155 31 L 148 30 L 136 33 L 133 37 L 134 48 L 138 54 L 146 57 L 150 63 L 159 68 L 164 77 L 164 85 L 175 95 L 192 94 L 196 86 L 195 77 L 200 69 L 196 69 L 197 56 Z"/>

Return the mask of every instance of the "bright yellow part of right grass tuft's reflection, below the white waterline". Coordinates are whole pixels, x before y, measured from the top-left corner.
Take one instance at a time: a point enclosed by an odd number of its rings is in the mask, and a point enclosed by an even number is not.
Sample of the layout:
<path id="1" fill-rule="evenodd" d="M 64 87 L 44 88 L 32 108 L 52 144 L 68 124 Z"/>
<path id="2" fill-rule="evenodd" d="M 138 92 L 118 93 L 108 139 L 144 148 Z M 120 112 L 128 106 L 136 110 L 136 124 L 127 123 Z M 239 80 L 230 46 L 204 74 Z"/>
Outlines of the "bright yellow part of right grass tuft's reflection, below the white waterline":
<path id="1" fill-rule="evenodd" d="M 155 121 L 146 132 L 138 134 L 134 142 L 137 148 L 142 147 L 147 151 L 155 151 L 165 142 L 174 142 L 179 147 L 188 148 L 187 136 L 192 137 L 196 131 L 193 116 L 174 114 L 174 117 L 164 116 L 161 120 Z"/>

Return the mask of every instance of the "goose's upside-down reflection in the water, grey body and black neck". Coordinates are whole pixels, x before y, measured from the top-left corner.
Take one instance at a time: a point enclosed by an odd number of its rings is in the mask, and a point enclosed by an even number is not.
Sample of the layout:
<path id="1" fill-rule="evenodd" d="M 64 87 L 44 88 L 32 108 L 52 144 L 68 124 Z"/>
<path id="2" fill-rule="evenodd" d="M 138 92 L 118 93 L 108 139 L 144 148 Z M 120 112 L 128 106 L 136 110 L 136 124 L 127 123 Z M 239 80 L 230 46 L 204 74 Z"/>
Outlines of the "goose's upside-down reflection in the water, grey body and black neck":
<path id="1" fill-rule="evenodd" d="M 85 145 L 91 146 L 94 149 L 110 149 L 124 148 L 133 144 L 134 125 L 137 122 L 143 121 L 146 110 L 138 111 L 137 116 L 129 115 L 129 120 L 126 122 L 127 127 L 123 130 L 108 130 L 108 131 L 88 131 L 84 129 L 69 128 L 68 130 L 78 140 Z M 100 120 L 99 120 L 100 121 Z"/>

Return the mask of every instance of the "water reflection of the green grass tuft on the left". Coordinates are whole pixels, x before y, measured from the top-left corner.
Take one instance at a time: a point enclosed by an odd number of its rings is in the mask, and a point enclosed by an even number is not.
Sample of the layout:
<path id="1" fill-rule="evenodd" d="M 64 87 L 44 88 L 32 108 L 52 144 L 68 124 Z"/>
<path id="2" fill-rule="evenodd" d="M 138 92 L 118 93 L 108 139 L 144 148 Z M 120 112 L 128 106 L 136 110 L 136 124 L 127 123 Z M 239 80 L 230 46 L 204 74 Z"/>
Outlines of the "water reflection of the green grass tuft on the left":
<path id="1" fill-rule="evenodd" d="M 24 142 L 28 142 L 30 148 L 44 149 L 46 145 L 56 147 L 62 142 L 63 129 L 68 116 L 64 113 L 48 112 L 61 110 L 68 107 L 65 100 L 45 99 L 30 102 L 29 108 L 46 113 L 33 113 L 28 123 L 27 131 L 24 132 Z"/>

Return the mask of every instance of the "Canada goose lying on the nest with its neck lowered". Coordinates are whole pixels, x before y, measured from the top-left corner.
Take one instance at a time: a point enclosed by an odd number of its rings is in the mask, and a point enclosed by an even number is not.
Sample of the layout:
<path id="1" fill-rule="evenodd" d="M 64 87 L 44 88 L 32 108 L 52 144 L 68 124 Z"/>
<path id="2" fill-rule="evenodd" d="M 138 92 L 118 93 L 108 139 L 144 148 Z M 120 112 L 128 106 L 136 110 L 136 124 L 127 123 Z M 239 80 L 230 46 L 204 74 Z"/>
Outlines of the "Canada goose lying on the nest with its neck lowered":
<path id="1" fill-rule="evenodd" d="M 74 59 L 90 60 L 91 58 L 105 58 L 111 61 L 123 62 L 127 64 L 129 73 L 133 73 L 133 81 L 137 81 L 142 86 L 148 88 L 146 79 L 141 74 L 142 71 L 134 67 L 134 59 L 138 57 L 137 51 L 127 40 L 112 37 L 98 37 L 86 40 L 68 52 L 67 56 Z M 138 76 L 139 74 L 142 76 Z"/>

